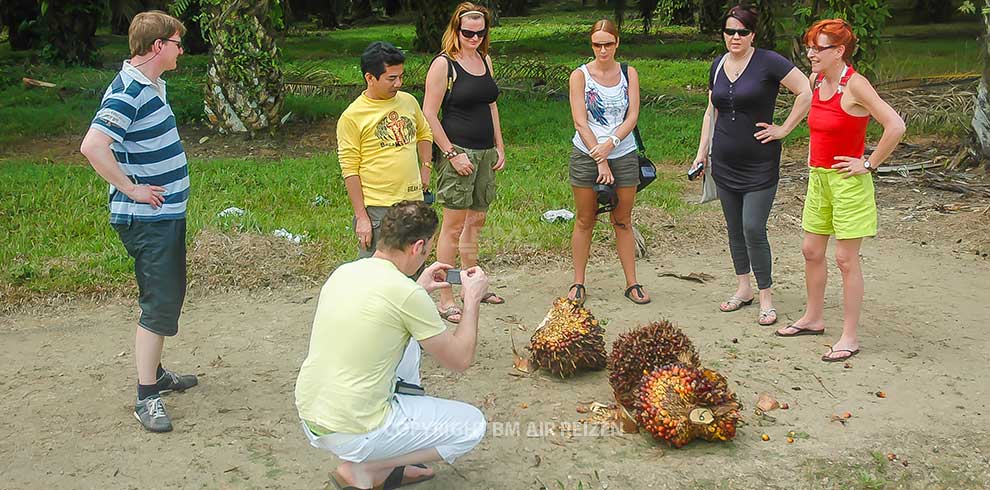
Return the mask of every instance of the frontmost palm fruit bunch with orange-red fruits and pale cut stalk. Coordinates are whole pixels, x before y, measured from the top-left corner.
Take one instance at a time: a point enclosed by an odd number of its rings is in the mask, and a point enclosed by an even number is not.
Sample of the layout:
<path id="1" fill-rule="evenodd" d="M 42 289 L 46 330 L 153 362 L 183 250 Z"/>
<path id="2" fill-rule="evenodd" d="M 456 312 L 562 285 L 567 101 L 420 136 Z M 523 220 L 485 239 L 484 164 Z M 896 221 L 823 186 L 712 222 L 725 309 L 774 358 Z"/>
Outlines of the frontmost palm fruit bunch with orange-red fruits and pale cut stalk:
<path id="1" fill-rule="evenodd" d="M 742 408 L 725 377 L 710 369 L 671 364 L 644 373 L 636 421 L 653 437 L 681 447 L 696 438 L 736 436 Z"/>

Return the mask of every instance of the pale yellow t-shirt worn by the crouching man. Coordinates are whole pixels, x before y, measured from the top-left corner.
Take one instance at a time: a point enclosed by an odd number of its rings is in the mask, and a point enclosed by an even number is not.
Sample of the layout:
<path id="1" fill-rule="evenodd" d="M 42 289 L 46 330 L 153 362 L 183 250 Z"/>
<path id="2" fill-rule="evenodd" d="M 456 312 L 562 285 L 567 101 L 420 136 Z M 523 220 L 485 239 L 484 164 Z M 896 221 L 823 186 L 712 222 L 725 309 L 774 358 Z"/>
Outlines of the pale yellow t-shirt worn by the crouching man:
<path id="1" fill-rule="evenodd" d="M 338 267 L 320 291 L 296 379 L 299 417 L 333 432 L 378 428 L 410 336 L 424 340 L 445 329 L 426 290 L 392 262 L 371 257 Z"/>

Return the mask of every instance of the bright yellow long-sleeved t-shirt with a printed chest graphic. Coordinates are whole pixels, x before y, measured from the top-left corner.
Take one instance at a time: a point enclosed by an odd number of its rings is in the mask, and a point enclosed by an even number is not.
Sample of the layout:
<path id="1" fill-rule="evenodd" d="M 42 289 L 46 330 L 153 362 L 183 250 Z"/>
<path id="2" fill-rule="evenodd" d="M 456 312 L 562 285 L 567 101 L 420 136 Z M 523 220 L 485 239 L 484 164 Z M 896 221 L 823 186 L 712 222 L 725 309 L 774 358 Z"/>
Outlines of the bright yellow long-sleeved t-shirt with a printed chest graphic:
<path id="1" fill-rule="evenodd" d="M 344 110 L 337 121 L 337 159 L 344 178 L 361 178 L 365 206 L 423 200 L 419 141 L 433 141 L 433 133 L 410 94 L 376 100 L 362 93 Z"/>

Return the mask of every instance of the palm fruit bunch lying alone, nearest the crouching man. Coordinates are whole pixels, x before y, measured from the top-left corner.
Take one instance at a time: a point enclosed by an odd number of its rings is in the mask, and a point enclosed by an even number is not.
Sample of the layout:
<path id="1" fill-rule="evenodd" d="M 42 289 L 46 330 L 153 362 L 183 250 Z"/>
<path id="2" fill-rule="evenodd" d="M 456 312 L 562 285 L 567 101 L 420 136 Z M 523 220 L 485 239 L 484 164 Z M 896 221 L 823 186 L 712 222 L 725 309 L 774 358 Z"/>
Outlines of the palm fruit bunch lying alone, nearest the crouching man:
<path id="1" fill-rule="evenodd" d="M 590 311 L 557 298 L 533 332 L 529 350 L 536 366 L 566 378 L 580 369 L 605 367 L 604 333 Z"/>

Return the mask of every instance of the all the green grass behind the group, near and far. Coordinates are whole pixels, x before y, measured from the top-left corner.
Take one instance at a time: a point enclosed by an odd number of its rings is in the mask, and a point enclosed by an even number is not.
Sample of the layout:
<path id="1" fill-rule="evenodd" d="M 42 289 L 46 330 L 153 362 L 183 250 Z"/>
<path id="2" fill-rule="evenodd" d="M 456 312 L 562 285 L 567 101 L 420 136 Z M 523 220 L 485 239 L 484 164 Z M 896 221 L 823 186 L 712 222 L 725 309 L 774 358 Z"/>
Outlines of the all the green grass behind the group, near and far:
<path id="1" fill-rule="evenodd" d="M 566 78 L 569 70 L 591 55 L 590 24 L 609 15 L 572 3 L 537 9 L 531 17 L 505 18 L 492 31 L 496 73 L 501 76 L 500 67 L 530 58 L 555 67 Z M 975 71 L 978 31 L 976 23 L 893 27 L 890 32 L 895 37 L 882 47 L 879 73 L 882 78 L 903 78 Z M 649 214 L 692 212 L 680 197 L 681 169 L 697 148 L 707 73 L 714 54 L 723 48 L 717 38 L 684 27 L 662 27 L 656 34 L 644 35 L 637 22 L 630 22 L 625 32 L 620 58 L 639 71 L 644 93 L 663 95 L 641 111 L 647 153 L 660 166 L 663 178 L 638 195 L 638 208 Z M 919 37 L 925 32 L 939 37 Z M 403 23 L 288 35 L 279 45 L 287 68 L 319 67 L 342 83 L 361 84 L 358 56 L 368 43 L 387 39 L 408 48 L 413 36 L 412 24 Z M 101 35 L 98 42 L 102 64 L 97 68 L 48 66 L 38 63 L 37 53 L 12 52 L 7 44 L 0 45 L 0 147 L 30 147 L 39 135 L 82 136 L 103 91 L 127 56 L 124 36 Z M 407 85 L 422 84 L 431 59 L 428 54 L 408 54 Z M 180 124 L 203 119 L 203 74 L 208 63 L 206 55 L 184 56 L 179 69 L 166 75 L 169 100 Z M 26 89 L 21 77 L 57 83 L 59 89 Z M 567 154 L 574 130 L 566 89 L 556 88 L 549 97 L 505 90 L 499 99 L 509 143 L 507 171 L 499 177 L 499 199 L 482 241 L 483 258 L 498 253 L 562 253 L 568 248 L 569 225 L 539 221 L 548 209 L 573 209 Z M 294 120 L 332 119 L 352 98 L 343 93 L 347 90 L 340 92 L 290 94 L 285 107 Z M 877 128 L 870 131 L 875 140 Z M 802 125 L 789 142 L 806 139 L 807 128 Z M 270 235 L 285 228 L 308 236 L 307 253 L 316 254 L 312 263 L 327 270 L 353 258 L 351 211 L 335 155 L 199 160 L 192 162 L 191 173 L 190 241 L 200 230 Z M 106 184 L 92 169 L 40 162 L 30 155 L 0 157 L 0 188 L 4 189 L 0 233 L 7 238 L 0 243 L 0 286 L 53 294 L 115 290 L 129 283 L 130 260 L 107 224 Z M 314 205 L 317 196 L 324 201 Z M 216 216 L 230 206 L 246 209 L 248 214 Z M 663 232 L 652 226 L 641 229 L 647 239 Z M 610 240 L 610 233 L 599 227 L 595 239 Z"/>

